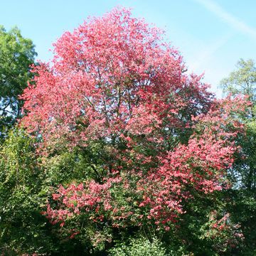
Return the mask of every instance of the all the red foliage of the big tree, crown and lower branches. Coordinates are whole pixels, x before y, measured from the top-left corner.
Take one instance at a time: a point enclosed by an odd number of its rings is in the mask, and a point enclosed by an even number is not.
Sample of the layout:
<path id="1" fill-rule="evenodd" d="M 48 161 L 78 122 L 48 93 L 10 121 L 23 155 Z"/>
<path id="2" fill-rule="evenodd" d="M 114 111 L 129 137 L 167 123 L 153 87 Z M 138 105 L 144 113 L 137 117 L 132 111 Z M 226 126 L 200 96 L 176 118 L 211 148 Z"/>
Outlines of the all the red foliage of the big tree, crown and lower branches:
<path id="1" fill-rule="evenodd" d="M 115 161 L 101 183 L 60 186 L 53 200 L 61 207 L 46 213 L 53 223 L 82 212 L 115 227 L 153 221 L 169 230 L 194 191 L 228 186 L 225 170 L 242 131 L 233 111 L 245 102 L 213 100 L 201 76 L 186 75 L 159 29 L 114 9 L 64 33 L 54 53 L 51 65 L 33 69 L 38 75 L 23 94 L 23 125 L 41 134 L 46 149 L 104 140 Z M 117 191 L 131 195 L 126 206 Z"/>

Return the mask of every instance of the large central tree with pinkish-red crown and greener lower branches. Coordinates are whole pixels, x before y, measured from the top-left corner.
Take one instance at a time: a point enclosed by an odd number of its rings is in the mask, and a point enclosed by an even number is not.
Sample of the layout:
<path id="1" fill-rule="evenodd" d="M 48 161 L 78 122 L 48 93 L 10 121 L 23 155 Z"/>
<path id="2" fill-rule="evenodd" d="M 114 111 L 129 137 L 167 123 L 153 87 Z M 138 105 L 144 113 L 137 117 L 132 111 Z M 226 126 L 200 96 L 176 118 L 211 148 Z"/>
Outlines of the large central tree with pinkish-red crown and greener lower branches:
<path id="1" fill-rule="evenodd" d="M 84 166 L 53 184 L 48 198 L 44 214 L 59 237 L 92 255 L 138 233 L 164 234 L 167 245 L 198 255 L 237 246 L 242 234 L 216 195 L 230 186 L 245 100 L 215 100 L 201 76 L 186 74 L 163 33 L 127 9 L 64 33 L 54 53 L 52 63 L 33 68 L 22 124 L 41 141 L 46 162 L 75 152 L 75 165 Z M 218 235 L 223 228 L 228 235 Z M 199 240 L 208 246 L 197 247 Z"/>

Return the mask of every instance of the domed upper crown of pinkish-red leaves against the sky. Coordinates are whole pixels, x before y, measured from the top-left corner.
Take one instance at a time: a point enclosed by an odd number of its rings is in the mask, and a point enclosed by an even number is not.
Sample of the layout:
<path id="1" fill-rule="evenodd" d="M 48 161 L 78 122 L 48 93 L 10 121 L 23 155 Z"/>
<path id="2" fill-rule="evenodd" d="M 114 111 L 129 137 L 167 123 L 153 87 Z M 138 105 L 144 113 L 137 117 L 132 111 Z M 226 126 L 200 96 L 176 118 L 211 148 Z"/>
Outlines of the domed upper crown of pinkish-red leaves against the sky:
<path id="1" fill-rule="evenodd" d="M 33 69 L 36 86 L 22 96 L 23 124 L 48 144 L 125 133 L 155 139 L 160 127 L 186 125 L 181 112 L 196 114 L 210 101 L 201 77 L 183 73 L 181 55 L 163 43 L 161 31 L 126 9 L 64 33 L 54 53 L 52 65 Z"/>

